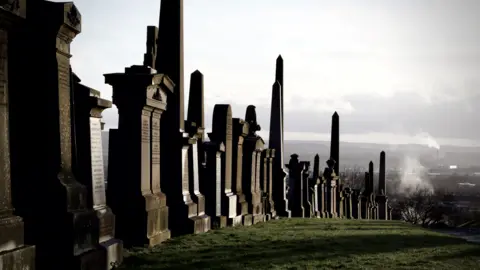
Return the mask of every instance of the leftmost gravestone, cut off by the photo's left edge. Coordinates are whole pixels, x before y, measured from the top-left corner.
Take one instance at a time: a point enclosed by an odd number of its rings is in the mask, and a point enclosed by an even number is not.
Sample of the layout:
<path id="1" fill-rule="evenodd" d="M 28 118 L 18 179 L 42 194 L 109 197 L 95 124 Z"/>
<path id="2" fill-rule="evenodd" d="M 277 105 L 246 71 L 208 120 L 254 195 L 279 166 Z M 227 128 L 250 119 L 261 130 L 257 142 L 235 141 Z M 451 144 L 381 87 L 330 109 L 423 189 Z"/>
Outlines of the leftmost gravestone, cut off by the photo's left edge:
<path id="1" fill-rule="evenodd" d="M 25 1 L 11 1 L 0 4 L 0 269 L 33 269 L 35 247 L 24 244 L 24 222 L 13 215 L 10 173 L 10 135 L 8 96 L 14 89 L 9 83 L 9 66 L 15 61 L 8 55 L 11 33 L 24 23 Z M 28 166 L 27 164 L 24 164 Z"/>

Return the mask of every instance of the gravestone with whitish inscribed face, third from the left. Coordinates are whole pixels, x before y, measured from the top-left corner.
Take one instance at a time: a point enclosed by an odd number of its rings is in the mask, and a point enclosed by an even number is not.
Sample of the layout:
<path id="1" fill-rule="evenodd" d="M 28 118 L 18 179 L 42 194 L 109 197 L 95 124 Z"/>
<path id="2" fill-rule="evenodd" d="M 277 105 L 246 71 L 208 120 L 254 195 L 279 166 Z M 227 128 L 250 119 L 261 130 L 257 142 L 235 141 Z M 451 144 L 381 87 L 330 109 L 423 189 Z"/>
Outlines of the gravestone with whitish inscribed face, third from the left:
<path id="1" fill-rule="evenodd" d="M 115 215 L 107 206 L 102 147 L 102 112 L 112 103 L 100 92 L 80 83 L 73 74 L 74 134 L 76 137 L 73 172 L 87 189 L 89 207 L 99 219 L 100 245 L 107 251 L 107 269 L 123 260 L 123 242 L 115 239 Z"/>

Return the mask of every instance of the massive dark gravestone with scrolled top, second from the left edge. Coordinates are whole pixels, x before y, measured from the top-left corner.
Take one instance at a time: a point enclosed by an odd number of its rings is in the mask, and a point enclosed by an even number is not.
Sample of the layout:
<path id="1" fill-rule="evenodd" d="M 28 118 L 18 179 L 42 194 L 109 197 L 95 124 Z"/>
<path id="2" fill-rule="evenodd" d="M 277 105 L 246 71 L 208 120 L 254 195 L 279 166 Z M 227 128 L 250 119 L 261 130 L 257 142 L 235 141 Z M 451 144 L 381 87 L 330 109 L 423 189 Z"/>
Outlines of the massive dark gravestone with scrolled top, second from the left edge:
<path id="1" fill-rule="evenodd" d="M 80 31 L 73 3 L 28 1 L 27 20 L 9 48 L 18 56 L 9 71 L 17 89 L 10 96 L 12 198 L 24 217 L 25 243 L 36 246 L 37 269 L 106 265 L 96 212 L 88 205 L 84 180 L 72 170 L 70 43 Z M 25 84 L 25 67 L 35 70 L 28 79 L 42 91 Z M 32 112 L 47 120 L 32 121 Z"/>

